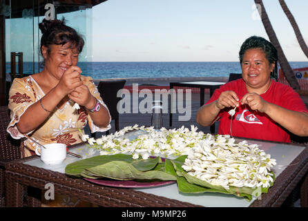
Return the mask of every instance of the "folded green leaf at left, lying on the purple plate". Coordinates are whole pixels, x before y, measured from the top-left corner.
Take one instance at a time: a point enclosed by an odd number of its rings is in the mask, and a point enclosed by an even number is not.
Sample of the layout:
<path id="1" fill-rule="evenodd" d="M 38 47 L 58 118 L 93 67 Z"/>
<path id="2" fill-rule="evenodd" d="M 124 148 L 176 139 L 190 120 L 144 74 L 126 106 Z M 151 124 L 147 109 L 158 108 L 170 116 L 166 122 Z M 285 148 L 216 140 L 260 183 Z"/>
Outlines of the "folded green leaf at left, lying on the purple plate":
<path id="1" fill-rule="evenodd" d="M 176 180 L 175 176 L 164 173 L 164 165 L 160 157 L 134 160 L 132 155 L 99 155 L 68 164 L 65 171 L 68 175 L 93 179 Z"/>

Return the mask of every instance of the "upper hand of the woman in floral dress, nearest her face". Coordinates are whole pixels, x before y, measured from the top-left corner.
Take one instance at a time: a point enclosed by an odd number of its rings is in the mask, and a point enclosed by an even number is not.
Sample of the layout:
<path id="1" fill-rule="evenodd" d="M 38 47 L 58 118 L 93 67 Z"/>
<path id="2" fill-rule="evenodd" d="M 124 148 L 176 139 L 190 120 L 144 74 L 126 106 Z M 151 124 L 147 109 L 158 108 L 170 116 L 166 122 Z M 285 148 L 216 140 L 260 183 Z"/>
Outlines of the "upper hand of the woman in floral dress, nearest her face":
<path id="1" fill-rule="evenodd" d="M 64 96 L 72 93 L 75 88 L 82 85 L 80 80 L 81 69 L 77 66 L 70 66 L 62 75 L 57 88 Z"/>

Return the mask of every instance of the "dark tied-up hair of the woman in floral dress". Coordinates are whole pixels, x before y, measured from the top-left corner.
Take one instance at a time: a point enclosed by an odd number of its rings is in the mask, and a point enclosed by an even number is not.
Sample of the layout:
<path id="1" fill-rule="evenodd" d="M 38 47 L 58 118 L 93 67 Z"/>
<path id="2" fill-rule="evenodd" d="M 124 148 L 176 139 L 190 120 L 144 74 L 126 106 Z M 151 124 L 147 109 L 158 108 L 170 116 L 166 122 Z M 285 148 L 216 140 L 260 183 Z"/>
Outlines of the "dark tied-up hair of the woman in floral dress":
<path id="1" fill-rule="evenodd" d="M 70 42 L 70 48 L 76 48 L 78 53 L 84 48 L 84 39 L 74 28 L 65 25 L 64 18 L 61 21 L 57 19 L 49 21 L 44 19 L 39 23 L 39 29 L 43 34 L 41 36 L 41 48 L 42 46 L 46 46 L 48 48 L 48 55 L 52 44 L 63 46 Z"/>

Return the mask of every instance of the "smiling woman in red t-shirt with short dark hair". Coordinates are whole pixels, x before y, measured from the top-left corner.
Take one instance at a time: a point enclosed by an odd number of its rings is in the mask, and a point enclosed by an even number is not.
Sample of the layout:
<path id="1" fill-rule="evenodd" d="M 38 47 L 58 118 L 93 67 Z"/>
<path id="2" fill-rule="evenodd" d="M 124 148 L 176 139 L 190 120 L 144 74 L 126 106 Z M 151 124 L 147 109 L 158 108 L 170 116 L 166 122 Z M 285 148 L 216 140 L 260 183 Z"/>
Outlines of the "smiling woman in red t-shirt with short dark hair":
<path id="1" fill-rule="evenodd" d="M 218 133 L 290 142 L 289 132 L 308 135 L 308 111 L 291 87 L 277 76 L 278 53 L 262 37 L 249 37 L 240 48 L 242 79 L 221 86 L 196 116 L 202 126 L 220 119 Z M 236 107 L 236 108 L 235 108 Z M 235 108 L 235 115 L 229 111 Z"/>

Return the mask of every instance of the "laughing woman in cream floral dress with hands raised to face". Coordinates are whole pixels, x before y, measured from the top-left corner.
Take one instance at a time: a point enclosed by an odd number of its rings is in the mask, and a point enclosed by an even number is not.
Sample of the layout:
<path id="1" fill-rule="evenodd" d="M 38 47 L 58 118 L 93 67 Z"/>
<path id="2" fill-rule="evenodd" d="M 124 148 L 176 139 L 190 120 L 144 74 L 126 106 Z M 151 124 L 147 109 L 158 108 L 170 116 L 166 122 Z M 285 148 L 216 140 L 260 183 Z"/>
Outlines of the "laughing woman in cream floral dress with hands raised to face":
<path id="1" fill-rule="evenodd" d="M 14 79 L 10 88 L 11 122 L 8 133 L 15 139 L 24 133 L 40 144 L 82 142 L 81 131 L 88 123 L 91 132 L 110 128 L 110 114 L 91 77 L 81 75 L 77 66 L 84 39 L 64 24 L 64 20 L 39 24 L 42 32 L 40 73 Z M 73 108 L 74 104 L 80 108 Z M 25 142 L 25 156 L 37 147 Z M 31 153 L 32 152 L 32 153 Z"/>

